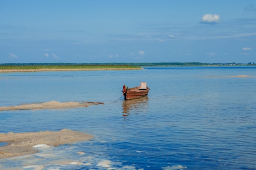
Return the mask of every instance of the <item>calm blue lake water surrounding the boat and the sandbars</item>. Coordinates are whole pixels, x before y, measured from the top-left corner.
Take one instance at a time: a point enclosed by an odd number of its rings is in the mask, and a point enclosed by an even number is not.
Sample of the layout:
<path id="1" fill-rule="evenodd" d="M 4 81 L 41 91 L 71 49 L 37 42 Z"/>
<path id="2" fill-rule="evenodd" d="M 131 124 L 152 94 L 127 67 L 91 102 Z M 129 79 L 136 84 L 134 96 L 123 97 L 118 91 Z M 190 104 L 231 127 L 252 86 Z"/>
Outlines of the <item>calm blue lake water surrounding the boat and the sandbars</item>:
<path id="1" fill-rule="evenodd" d="M 119 99 L 124 84 L 140 82 L 148 97 Z M 0 159 L 1 170 L 256 170 L 256 67 L 0 73 L 0 94 L 0 106 L 104 102 L 1 111 L 0 133 L 66 128 L 94 135 Z"/>

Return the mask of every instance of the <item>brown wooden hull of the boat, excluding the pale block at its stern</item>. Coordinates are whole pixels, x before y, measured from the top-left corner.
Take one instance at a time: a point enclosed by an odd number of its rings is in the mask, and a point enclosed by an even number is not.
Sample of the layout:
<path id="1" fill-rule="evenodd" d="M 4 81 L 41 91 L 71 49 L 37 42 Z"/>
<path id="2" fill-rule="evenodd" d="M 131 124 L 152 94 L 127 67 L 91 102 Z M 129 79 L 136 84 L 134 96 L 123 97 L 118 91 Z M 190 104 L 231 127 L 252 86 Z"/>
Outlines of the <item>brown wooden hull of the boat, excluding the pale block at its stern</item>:
<path id="1" fill-rule="evenodd" d="M 141 97 L 145 97 L 148 95 L 148 91 L 150 90 L 148 87 L 146 89 L 139 89 L 140 86 L 130 88 L 128 91 L 124 92 L 122 91 L 124 95 L 125 100 L 130 100 L 130 99 L 138 99 Z"/>

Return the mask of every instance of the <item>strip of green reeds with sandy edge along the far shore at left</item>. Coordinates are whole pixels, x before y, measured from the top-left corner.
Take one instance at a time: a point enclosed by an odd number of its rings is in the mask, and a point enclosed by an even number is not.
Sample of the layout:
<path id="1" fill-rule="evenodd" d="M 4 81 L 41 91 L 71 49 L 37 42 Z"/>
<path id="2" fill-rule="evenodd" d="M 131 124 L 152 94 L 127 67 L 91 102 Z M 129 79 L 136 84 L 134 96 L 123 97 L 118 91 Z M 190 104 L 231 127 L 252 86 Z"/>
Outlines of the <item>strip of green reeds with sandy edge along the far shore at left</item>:
<path id="1" fill-rule="evenodd" d="M 0 66 L 0 72 L 30 72 L 30 71 L 86 71 L 86 70 L 138 70 L 140 66 L 130 65 L 22 65 Z"/>

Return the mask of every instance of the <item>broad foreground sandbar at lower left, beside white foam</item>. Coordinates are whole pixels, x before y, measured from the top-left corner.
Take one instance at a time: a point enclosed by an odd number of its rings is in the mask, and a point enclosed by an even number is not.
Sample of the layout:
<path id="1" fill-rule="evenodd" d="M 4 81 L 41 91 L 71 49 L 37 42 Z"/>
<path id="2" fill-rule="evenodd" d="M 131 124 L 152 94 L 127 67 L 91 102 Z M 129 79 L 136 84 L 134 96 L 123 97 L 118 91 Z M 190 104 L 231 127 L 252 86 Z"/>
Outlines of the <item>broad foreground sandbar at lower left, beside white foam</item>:
<path id="1" fill-rule="evenodd" d="M 92 135 L 68 129 L 57 132 L 0 133 L 0 142 L 8 143 L 0 147 L 0 159 L 36 153 L 38 150 L 33 146 L 39 144 L 58 146 L 93 138 Z"/>

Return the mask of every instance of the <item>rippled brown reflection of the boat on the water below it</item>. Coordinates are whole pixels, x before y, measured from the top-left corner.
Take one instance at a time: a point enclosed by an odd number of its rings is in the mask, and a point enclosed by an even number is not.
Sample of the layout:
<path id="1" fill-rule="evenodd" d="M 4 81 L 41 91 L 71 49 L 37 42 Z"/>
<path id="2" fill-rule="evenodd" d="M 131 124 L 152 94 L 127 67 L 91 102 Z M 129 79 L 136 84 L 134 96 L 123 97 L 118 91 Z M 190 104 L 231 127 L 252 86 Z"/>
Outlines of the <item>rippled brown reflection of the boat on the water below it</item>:
<path id="1" fill-rule="evenodd" d="M 123 100 L 123 116 L 127 117 L 131 113 L 146 112 L 148 108 L 148 97 L 142 97 L 139 99 Z"/>

